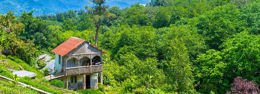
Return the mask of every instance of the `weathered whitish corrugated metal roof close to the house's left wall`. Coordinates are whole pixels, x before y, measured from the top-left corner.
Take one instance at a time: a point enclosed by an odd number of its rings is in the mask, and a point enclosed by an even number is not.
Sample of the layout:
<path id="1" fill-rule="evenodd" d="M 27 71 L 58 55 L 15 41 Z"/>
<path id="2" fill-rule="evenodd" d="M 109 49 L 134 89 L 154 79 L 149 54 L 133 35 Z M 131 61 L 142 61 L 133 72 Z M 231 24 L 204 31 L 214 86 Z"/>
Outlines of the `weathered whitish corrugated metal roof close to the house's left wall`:
<path id="1" fill-rule="evenodd" d="M 42 69 L 48 69 L 49 71 L 52 71 L 55 69 L 55 59 L 51 59 L 51 56 L 48 54 L 42 54 L 37 58 L 37 61 L 42 61 L 46 63 L 46 66 Z M 41 69 L 41 70 L 42 70 Z"/>

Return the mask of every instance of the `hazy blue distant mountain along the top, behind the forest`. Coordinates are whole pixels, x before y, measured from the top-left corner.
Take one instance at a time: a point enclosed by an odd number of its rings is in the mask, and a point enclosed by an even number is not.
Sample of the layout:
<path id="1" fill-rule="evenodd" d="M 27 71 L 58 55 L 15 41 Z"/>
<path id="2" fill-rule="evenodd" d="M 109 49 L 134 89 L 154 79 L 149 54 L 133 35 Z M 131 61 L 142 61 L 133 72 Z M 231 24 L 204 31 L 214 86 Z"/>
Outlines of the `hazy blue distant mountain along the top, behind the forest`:
<path id="1" fill-rule="evenodd" d="M 107 0 L 107 5 L 118 5 L 120 8 L 130 7 L 132 3 L 146 4 L 149 0 Z M 13 11 L 15 15 L 31 12 L 34 15 L 56 14 L 68 10 L 83 9 L 89 0 L 0 0 L 0 14 Z"/>

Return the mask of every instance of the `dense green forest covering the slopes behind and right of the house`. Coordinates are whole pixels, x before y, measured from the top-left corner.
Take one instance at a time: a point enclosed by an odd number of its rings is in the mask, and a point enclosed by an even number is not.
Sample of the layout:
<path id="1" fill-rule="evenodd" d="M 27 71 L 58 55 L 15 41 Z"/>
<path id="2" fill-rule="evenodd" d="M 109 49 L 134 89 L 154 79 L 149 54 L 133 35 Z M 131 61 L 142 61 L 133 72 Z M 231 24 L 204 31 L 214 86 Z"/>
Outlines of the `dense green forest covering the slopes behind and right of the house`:
<path id="1" fill-rule="evenodd" d="M 112 93 L 259 94 L 259 0 L 94 3 L 56 15 L 0 15 L 1 49 L 40 67 L 38 55 L 53 55 L 73 36 L 108 53 L 103 80 Z"/>

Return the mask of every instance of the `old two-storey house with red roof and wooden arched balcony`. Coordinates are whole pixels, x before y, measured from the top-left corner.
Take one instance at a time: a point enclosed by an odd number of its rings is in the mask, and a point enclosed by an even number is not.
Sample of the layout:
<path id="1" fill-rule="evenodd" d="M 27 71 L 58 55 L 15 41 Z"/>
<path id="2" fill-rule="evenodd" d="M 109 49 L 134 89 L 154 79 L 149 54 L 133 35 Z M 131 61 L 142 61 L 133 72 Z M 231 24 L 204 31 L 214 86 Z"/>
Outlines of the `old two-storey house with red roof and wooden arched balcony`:
<path id="1" fill-rule="evenodd" d="M 59 79 L 67 89 L 97 88 L 103 84 L 102 55 L 105 51 L 83 39 L 71 37 L 55 49 L 55 73 L 45 78 Z"/>

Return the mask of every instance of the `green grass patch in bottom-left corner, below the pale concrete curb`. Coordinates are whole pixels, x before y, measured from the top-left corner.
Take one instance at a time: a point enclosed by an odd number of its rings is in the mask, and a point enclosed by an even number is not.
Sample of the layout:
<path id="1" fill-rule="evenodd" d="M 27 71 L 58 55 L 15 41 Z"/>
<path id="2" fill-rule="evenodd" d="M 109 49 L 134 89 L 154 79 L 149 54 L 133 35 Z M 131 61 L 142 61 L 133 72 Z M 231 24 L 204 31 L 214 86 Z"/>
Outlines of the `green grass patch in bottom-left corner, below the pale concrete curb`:
<path id="1" fill-rule="evenodd" d="M 14 85 L 8 80 L 0 80 L 0 93 L 3 94 L 39 94 L 35 90 Z"/>

